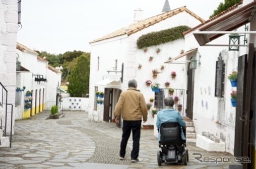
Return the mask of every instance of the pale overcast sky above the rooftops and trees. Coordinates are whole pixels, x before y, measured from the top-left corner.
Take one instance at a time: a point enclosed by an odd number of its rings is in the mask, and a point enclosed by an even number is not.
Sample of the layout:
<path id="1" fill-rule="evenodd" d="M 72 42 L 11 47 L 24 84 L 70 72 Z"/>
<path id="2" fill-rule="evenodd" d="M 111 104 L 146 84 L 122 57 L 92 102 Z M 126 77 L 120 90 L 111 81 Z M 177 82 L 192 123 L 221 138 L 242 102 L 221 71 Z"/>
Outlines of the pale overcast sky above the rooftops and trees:
<path id="1" fill-rule="evenodd" d="M 165 0 L 22 0 L 17 41 L 30 49 L 63 54 L 90 52 L 90 41 L 133 23 L 134 10 L 144 19 L 162 13 Z M 224 0 L 169 0 L 171 10 L 186 6 L 208 20 Z"/>

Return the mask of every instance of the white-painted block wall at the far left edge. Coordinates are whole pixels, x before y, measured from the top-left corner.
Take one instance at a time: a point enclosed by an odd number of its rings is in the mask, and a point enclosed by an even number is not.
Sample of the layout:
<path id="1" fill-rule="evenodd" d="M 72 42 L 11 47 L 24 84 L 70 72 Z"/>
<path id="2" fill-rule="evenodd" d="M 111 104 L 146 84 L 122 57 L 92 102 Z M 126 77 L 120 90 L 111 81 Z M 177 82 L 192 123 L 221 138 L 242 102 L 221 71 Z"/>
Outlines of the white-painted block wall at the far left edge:
<path id="1" fill-rule="evenodd" d="M 8 104 L 15 104 L 17 1 L 0 0 L 0 81 L 8 91 Z M 0 94 L 2 95 L 2 93 Z M 4 93 L 4 98 L 6 94 Z M 1 96 L 2 98 L 2 96 Z M 5 100 L 5 99 L 4 99 Z M 1 100 L 2 102 L 2 100 Z M 3 104 L 7 104 L 6 101 Z M 6 111 L 4 105 L 4 111 Z M 15 109 L 14 109 L 15 111 Z M 7 134 L 11 132 L 11 107 L 7 109 Z M 5 117 L 3 120 L 5 124 Z M 14 126 L 14 118 L 13 118 Z M 13 127 L 12 126 L 12 127 Z M 13 130 L 14 132 L 14 130 Z"/>

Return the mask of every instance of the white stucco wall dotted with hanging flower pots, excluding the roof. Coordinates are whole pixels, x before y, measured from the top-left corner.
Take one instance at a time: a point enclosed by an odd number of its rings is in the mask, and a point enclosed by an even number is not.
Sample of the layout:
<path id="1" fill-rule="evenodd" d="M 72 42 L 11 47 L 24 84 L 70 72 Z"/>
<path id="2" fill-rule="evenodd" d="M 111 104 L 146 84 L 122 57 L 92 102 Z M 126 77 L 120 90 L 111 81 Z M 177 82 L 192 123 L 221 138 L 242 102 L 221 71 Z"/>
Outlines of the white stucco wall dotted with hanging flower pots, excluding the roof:
<path id="1" fill-rule="evenodd" d="M 137 39 L 143 34 L 147 34 L 153 31 L 160 31 L 180 25 L 187 25 L 194 27 L 200 24 L 198 20 L 191 17 L 189 14 L 183 12 L 175 15 L 169 19 L 161 21 L 153 26 L 143 29 L 129 37 L 125 35 L 115 37 L 110 40 L 104 40 L 91 44 L 91 69 L 90 69 L 90 99 L 89 99 L 89 119 L 102 121 L 103 120 L 103 106 L 98 105 L 98 110 L 94 109 L 95 90 L 94 84 L 102 79 L 103 75 L 107 75 L 106 70 L 111 69 L 115 65 L 115 59 L 117 59 L 117 70 L 121 69 L 121 63 L 124 63 L 123 71 L 123 83 L 120 87 L 122 91 L 127 89 L 127 82 L 136 78 L 138 81 L 138 89 L 143 93 L 146 102 L 150 97 L 154 97 L 154 93 L 150 88 L 146 86 L 145 81 L 150 79 L 154 82 L 161 84 L 164 87 L 164 82 L 169 80 L 171 82 L 171 88 L 186 89 L 186 83 L 183 83 L 183 79 L 186 79 L 185 64 L 164 64 L 169 57 L 175 57 L 180 54 L 180 51 L 184 50 L 184 40 L 179 39 L 175 42 L 148 47 L 148 52 L 145 53 L 143 49 L 138 49 Z M 160 48 L 161 52 L 156 53 L 156 49 Z M 149 56 L 154 56 L 152 62 L 149 62 Z M 97 70 L 98 60 L 99 70 Z M 106 64 L 107 63 L 107 64 Z M 143 64 L 141 70 L 138 70 L 138 64 Z M 152 77 L 152 69 L 157 68 L 160 71 L 161 65 L 165 65 L 165 69 L 158 75 L 156 79 Z M 170 72 L 176 71 L 177 76 L 175 80 L 170 77 Z M 165 88 L 165 87 L 164 87 Z M 99 91 L 104 92 L 104 87 L 99 86 Z M 185 99 L 184 99 L 185 100 Z M 100 116 L 100 117 L 98 117 Z M 152 113 L 149 112 L 147 124 L 154 124 Z"/>

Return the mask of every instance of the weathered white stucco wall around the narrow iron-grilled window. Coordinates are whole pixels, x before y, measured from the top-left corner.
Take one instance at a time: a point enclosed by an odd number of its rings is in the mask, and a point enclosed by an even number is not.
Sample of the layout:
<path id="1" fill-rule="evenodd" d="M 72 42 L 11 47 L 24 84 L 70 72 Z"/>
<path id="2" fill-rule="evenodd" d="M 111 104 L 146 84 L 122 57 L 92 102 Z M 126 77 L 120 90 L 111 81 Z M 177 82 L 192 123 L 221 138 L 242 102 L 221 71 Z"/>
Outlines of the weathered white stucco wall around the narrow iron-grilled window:
<path id="1" fill-rule="evenodd" d="M 238 31 L 243 31 L 244 26 Z M 248 37 L 248 36 L 247 36 Z M 193 34 L 185 36 L 186 46 L 193 46 L 197 41 Z M 228 44 L 228 35 L 208 44 Z M 240 42 L 243 43 L 243 37 Z M 195 70 L 194 109 L 193 121 L 197 134 L 210 132 L 226 143 L 226 152 L 233 154 L 235 134 L 235 107 L 232 107 L 230 93 L 236 91 L 231 87 L 227 76 L 232 71 L 237 71 L 238 56 L 246 54 L 247 47 L 240 47 L 239 51 L 228 51 L 228 47 L 221 46 L 199 46 L 198 52 L 201 66 Z M 215 69 L 216 61 L 221 53 L 225 66 L 224 98 L 214 96 L 215 92 Z M 199 58 L 197 58 L 199 59 Z"/>

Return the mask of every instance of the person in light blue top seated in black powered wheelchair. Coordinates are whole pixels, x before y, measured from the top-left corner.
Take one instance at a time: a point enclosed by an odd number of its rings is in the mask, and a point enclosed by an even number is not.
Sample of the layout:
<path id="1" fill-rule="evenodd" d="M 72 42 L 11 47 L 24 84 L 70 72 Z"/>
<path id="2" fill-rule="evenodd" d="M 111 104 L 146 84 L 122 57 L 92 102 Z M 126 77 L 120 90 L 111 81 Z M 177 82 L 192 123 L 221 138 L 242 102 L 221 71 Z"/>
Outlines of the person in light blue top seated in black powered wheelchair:
<path id="1" fill-rule="evenodd" d="M 180 113 L 173 109 L 174 100 L 172 97 L 167 97 L 164 99 L 165 108 L 160 110 L 157 113 L 157 121 L 156 127 L 158 129 L 158 141 L 159 147 L 161 147 L 162 151 L 158 152 L 158 164 L 161 165 L 162 162 L 183 162 L 186 165 L 188 154 L 187 149 L 185 149 L 185 127 L 186 124 L 182 119 Z M 171 131 L 169 128 L 174 129 Z M 176 132 L 176 137 L 170 136 L 169 132 Z M 163 131 L 161 131 L 161 129 Z M 166 133 L 166 131 L 168 131 Z M 166 136 L 161 137 L 161 133 L 167 134 Z M 162 140 L 161 140 L 162 139 Z M 169 141 L 167 141 L 169 140 Z M 174 155 L 169 155 L 174 154 Z"/>

